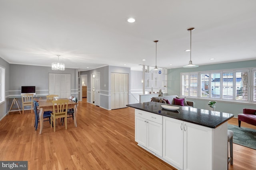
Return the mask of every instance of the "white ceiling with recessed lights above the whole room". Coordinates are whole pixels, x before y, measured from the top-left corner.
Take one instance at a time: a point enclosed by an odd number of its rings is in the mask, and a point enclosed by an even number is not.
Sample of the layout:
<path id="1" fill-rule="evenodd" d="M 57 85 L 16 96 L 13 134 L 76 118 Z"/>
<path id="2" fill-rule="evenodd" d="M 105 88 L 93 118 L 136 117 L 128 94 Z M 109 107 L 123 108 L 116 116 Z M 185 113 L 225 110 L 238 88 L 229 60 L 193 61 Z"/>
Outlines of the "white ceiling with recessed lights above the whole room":
<path id="1" fill-rule="evenodd" d="M 156 65 L 177 68 L 190 60 L 187 29 L 195 27 L 193 64 L 252 60 L 255 8 L 255 0 L 0 0 L 0 57 L 51 66 L 60 55 L 67 68 L 142 70 L 155 65 L 159 40 Z"/>

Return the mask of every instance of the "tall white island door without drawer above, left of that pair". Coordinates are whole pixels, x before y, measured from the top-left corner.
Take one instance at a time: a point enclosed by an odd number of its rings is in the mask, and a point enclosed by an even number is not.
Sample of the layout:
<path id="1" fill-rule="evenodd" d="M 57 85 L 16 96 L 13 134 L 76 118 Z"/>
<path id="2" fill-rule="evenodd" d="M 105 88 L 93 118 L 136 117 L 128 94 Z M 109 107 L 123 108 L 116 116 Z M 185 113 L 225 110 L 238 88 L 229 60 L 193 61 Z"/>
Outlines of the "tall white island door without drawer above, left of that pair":
<path id="1" fill-rule="evenodd" d="M 183 121 L 163 117 L 163 158 L 183 169 Z"/>

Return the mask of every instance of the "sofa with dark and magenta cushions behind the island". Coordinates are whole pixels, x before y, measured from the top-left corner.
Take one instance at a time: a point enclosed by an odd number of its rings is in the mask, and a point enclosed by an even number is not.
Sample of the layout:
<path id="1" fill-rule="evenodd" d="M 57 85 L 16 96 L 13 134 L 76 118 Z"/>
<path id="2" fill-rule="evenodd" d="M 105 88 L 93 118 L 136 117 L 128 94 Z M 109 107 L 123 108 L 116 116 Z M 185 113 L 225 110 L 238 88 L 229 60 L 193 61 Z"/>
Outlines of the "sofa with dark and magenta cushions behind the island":
<path id="1" fill-rule="evenodd" d="M 161 96 L 151 98 L 151 102 L 160 102 L 164 104 L 174 104 L 178 106 L 194 107 L 194 102 L 187 101 L 186 97 L 178 97 L 177 95 Z"/>

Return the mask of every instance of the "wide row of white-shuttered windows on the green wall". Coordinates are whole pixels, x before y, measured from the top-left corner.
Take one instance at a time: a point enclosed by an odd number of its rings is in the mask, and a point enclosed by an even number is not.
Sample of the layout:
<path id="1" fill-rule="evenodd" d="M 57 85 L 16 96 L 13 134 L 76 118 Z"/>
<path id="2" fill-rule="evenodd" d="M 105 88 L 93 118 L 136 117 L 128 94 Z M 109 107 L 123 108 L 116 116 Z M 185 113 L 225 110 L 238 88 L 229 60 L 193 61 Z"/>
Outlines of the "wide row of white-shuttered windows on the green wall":
<path id="1" fill-rule="evenodd" d="M 250 72 L 253 83 L 251 89 Z M 182 73 L 181 76 L 182 96 L 233 102 L 256 102 L 256 68 Z M 251 98 L 249 94 L 252 94 Z"/>

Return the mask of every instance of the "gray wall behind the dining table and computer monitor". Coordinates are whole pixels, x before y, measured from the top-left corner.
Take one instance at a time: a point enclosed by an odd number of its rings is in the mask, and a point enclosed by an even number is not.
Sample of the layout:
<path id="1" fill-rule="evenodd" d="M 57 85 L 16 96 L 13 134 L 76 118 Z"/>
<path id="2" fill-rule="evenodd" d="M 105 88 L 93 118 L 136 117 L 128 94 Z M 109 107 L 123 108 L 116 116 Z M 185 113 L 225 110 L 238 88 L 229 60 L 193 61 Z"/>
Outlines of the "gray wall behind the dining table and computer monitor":
<path id="1" fill-rule="evenodd" d="M 13 100 L 10 97 L 14 95 L 20 96 L 21 86 L 36 86 L 37 95 L 48 94 L 48 73 L 71 74 L 71 95 L 78 96 L 77 69 L 65 68 L 64 71 L 54 71 L 51 67 L 46 66 L 8 64 L 2 59 L 0 61 L 1 65 L 5 64 L 4 67 L 6 67 L 6 103 L 0 106 L 0 118 L 10 109 Z M 18 98 L 18 100 L 21 105 L 21 98 Z"/>

